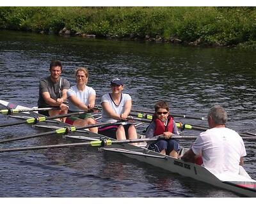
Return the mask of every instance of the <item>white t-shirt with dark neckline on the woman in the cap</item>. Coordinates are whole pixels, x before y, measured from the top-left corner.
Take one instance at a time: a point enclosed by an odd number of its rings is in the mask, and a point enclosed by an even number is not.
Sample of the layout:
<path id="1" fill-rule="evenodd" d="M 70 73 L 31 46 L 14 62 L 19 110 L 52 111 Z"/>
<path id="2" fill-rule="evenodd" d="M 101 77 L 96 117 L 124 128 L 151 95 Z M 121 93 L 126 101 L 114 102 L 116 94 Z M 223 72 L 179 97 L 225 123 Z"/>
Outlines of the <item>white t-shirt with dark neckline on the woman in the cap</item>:
<path id="1" fill-rule="evenodd" d="M 118 106 L 115 105 L 114 101 L 111 99 L 110 94 L 104 94 L 101 98 L 101 102 L 100 104 L 102 104 L 103 102 L 107 102 L 109 103 L 109 105 L 111 106 L 111 108 L 118 114 L 121 115 L 122 113 L 124 113 L 124 106 L 125 103 L 129 100 L 131 100 L 131 96 L 129 94 L 123 94 L 121 96 L 121 101 L 120 104 Z M 106 113 L 103 109 L 102 109 L 102 122 L 116 122 L 117 120 L 109 117 L 108 113 Z"/>

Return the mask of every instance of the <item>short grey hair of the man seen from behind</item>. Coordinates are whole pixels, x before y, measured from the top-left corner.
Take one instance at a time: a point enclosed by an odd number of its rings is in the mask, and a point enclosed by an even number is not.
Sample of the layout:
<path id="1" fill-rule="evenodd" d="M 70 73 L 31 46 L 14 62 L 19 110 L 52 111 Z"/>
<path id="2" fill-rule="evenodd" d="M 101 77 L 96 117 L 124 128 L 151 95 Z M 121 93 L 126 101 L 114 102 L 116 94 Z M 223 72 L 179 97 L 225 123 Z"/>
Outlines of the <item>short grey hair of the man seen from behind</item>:
<path id="1" fill-rule="evenodd" d="M 212 120 L 218 125 L 225 125 L 228 119 L 227 112 L 219 105 L 213 106 L 208 112 L 208 118 L 212 117 Z"/>

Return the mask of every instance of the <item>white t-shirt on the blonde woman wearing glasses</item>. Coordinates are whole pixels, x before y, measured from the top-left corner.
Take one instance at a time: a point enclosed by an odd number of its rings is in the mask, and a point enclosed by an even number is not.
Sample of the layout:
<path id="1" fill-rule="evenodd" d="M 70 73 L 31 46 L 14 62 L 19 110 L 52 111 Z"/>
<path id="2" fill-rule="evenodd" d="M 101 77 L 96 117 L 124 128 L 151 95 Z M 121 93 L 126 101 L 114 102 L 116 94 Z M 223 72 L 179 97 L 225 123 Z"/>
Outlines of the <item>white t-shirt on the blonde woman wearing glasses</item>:
<path id="1" fill-rule="evenodd" d="M 88 98 L 91 95 L 96 96 L 96 92 L 92 87 L 86 86 L 84 91 L 79 91 L 76 87 L 76 85 L 73 85 L 70 89 L 68 89 L 67 92 L 67 98 L 68 98 L 68 106 L 69 110 L 72 112 L 79 112 L 81 111 L 80 108 L 77 108 L 69 99 L 70 96 L 76 96 L 79 101 L 83 102 L 86 106 L 88 106 Z"/>

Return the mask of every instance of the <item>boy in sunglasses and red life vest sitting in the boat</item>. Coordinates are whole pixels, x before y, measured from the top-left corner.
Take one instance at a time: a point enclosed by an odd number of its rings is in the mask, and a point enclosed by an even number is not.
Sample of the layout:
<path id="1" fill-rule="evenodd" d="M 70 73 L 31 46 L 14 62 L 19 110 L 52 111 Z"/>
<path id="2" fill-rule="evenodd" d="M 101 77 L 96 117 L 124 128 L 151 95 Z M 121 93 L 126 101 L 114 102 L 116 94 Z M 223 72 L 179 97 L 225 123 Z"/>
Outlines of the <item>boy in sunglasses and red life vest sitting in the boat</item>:
<path id="1" fill-rule="evenodd" d="M 165 101 L 158 101 L 154 108 L 155 113 L 152 122 L 147 128 L 146 138 L 164 135 L 164 139 L 159 139 L 156 142 L 151 143 L 148 149 L 177 158 L 179 142 L 173 140 L 172 135 L 179 135 L 179 131 L 175 121 L 169 115 L 168 103 Z"/>

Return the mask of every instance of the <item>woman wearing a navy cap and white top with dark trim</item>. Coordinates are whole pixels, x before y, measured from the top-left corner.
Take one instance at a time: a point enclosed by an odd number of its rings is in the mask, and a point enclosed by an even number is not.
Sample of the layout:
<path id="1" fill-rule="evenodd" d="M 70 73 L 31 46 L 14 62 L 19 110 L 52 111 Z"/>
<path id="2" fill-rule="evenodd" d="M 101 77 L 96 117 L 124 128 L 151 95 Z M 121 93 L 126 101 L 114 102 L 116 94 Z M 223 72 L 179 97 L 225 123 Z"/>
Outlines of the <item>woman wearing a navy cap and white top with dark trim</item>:
<path id="1" fill-rule="evenodd" d="M 126 120 L 131 112 L 132 99 L 129 94 L 123 94 L 124 82 L 120 78 L 114 78 L 111 83 L 111 92 L 102 96 L 102 122 Z M 99 128 L 101 135 L 106 135 L 117 140 L 136 139 L 136 128 L 130 122 L 125 124 L 118 122 L 111 126 Z"/>

